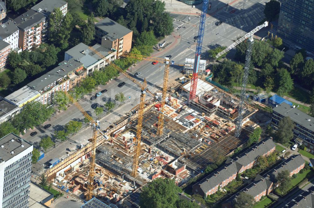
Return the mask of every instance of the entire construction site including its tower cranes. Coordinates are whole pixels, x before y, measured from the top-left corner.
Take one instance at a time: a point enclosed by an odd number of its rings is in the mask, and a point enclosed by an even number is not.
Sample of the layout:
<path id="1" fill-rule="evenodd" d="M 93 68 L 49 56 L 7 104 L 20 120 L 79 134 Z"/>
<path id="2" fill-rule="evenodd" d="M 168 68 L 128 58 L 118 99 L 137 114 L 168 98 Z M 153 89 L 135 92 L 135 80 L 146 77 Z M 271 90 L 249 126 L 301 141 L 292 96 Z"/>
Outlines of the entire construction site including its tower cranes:
<path id="1" fill-rule="evenodd" d="M 257 29 L 265 25 L 267 22 Z M 252 32 L 248 35 L 251 37 Z M 239 40 L 235 44 L 239 44 Z M 199 41 L 197 45 L 201 45 Z M 99 54 L 92 47 L 90 49 Z M 198 78 L 195 63 L 200 62 L 200 49 L 197 46 L 195 60 L 188 60 L 189 64 L 194 62 L 191 81 L 181 84 L 170 96 L 167 91 L 169 58 L 120 55 L 165 63 L 161 96 L 148 91 L 146 79 L 143 84 L 139 83 L 111 63 L 141 89 L 141 96 L 133 114 L 128 113 L 114 126 L 102 130 L 99 121 L 94 121 L 67 94 L 90 121 L 93 135 L 90 143 L 45 171 L 53 185 L 84 200 L 95 196 L 116 205 L 125 201 L 127 205 L 123 207 L 127 207 L 138 204 L 140 188 L 149 181 L 161 177 L 183 185 L 215 162 L 215 154 L 228 156 L 246 142 L 251 130 L 242 126 L 246 123 L 255 125 L 250 119 L 257 112 L 244 102 L 248 67 L 245 68 L 240 98 L 237 98 Z M 151 94 L 154 101 L 146 102 L 146 93 Z"/>

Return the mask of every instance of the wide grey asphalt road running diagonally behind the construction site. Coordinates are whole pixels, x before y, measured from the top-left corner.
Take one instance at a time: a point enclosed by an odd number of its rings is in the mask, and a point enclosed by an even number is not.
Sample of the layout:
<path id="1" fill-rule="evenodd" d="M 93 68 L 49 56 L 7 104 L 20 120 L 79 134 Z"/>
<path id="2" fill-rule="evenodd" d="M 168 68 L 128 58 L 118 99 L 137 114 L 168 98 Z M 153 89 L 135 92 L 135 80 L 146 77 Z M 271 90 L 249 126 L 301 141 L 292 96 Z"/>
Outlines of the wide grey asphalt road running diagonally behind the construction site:
<path id="1" fill-rule="evenodd" d="M 242 34 L 245 34 L 246 32 L 254 29 L 264 18 L 264 2 L 267 1 L 250 0 L 245 3 L 244 10 L 236 9 L 234 13 L 230 13 L 230 11 L 232 11 L 234 8 L 243 7 L 243 4 L 238 3 L 236 6 L 233 5 L 233 7 L 226 7 L 223 11 L 213 15 L 213 17 L 206 18 L 202 58 L 207 56 L 206 50 L 219 45 L 229 46 L 233 43 L 232 40 L 236 40 L 236 38 L 241 35 L 241 32 Z M 186 58 L 194 58 L 195 55 L 196 46 L 194 45 L 193 37 L 198 33 L 199 18 L 196 16 L 191 16 L 190 24 L 188 24 L 188 15 L 171 14 L 171 16 L 177 20 L 173 23 L 174 31 L 177 32 L 178 35 L 180 34 L 181 41 L 176 45 L 175 48 L 171 49 L 169 52 L 160 57 L 163 58 L 165 55 L 172 55 L 172 60 L 174 60 L 176 63 L 184 64 Z M 216 26 L 215 22 L 219 20 L 222 20 L 223 23 L 220 26 Z M 177 27 L 180 25 L 181 28 L 177 30 Z M 242 25 L 243 27 L 241 31 Z M 186 26 L 186 28 L 184 29 L 182 26 Z M 171 38 L 173 39 L 172 36 Z M 168 37 L 168 40 L 171 38 Z M 135 72 L 141 72 L 141 75 L 137 77 L 138 81 L 142 82 L 143 78 L 146 78 L 149 91 L 157 92 L 160 90 L 160 87 L 158 86 L 162 86 L 163 69 L 163 64 L 152 65 L 151 62 L 147 62 L 146 64 L 143 64 L 139 67 L 135 66 L 133 70 L 131 67 L 130 70 L 132 71 L 130 71 L 130 73 L 134 74 Z M 176 77 L 182 76 L 180 74 L 182 69 L 182 67 L 171 66 L 169 80 L 173 80 Z M 126 82 L 126 85 L 121 88 L 117 87 L 117 85 L 122 81 Z M 102 89 L 107 89 L 108 92 L 104 93 L 94 101 L 89 100 L 90 96 L 101 91 Z M 80 100 L 79 103 L 85 111 L 90 113 L 96 119 L 94 109 L 92 109 L 91 105 L 93 103 L 99 103 L 101 106 L 103 106 L 108 100 L 114 99 L 114 96 L 118 92 L 124 93 L 128 101 L 125 105 L 115 110 L 115 112 L 100 119 L 100 127 L 102 129 L 106 129 L 114 121 L 118 120 L 125 112 L 130 111 L 130 109 L 139 103 L 140 91 L 132 81 L 128 80 L 123 75 L 120 75 L 118 79 L 109 81 L 106 86 L 98 86 L 98 89 L 93 94 L 85 96 L 85 99 Z M 149 99 L 149 94 L 147 94 L 146 99 Z M 37 131 L 38 134 L 35 137 L 31 137 L 30 133 L 32 130 L 28 130 L 23 138 L 33 143 L 39 142 L 40 139 L 45 135 L 51 136 L 54 130 L 60 130 L 64 128 L 64 125 L 69 121 L 83 120 L 83 118 L 84 117 L 81 112 L 79 112 L 74 105 L 71 105 L 67 111 L 58 112 L 56 115 L 54 115 L 54 117 L 51 118 L 51 121 L 47 121 L 42 126 L 36 127 L 34 130 Z M 52 126 L 45 130 L 43 126 L 47 123 L 51 123 Z M 58 146 L 58 151 L 47 152 L 45 154 L 45 158 L 35 165 L 34 170 L 41 169 L 43 167 L 42 165 L 50 159 L 66 157 L 68 152 L 67 148 L 76 147 L 80 143 L 86 144 L 88 143 L 87 139 L 91 136 L 92 132 L 90 128 L 85 129 L 84 131 L 72 137 L 70 140 Z"/>

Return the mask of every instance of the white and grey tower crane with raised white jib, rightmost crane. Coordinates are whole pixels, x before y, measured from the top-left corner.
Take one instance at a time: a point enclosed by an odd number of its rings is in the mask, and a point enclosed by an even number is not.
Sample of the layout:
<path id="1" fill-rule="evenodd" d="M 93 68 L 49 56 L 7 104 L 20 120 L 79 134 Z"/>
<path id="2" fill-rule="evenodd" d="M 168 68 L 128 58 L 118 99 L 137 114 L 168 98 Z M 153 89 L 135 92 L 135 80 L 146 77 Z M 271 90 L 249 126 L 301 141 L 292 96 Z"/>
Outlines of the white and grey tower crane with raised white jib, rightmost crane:
<path id="1" fill-rule="evenodd" d="M 243 120 L 243 115 L 244 115 L 244 105 L 245 105 L 245 91 L 246 91 L 246 84 L 249 76 L 249 69 L 250 69 L 250 64 L 251 64 L 251 57 L 252 57 L 252 50 L 253 50 L 253 35 L 256 33 L 258 30 L 267 27 L 268 22 L 264 22 L 262 25 L 257 26 L 254 28 L 251 32 L 247 33 L 240 39 L 238 39 L 236 42 L 231 44 L 229 47 L 227 47 L 225 50 L 221 51 L 216 55 L 216 58 L 219 56 L 223 55 L 224 53 L 228 52 L 231 50 L 233 47 L 236 45 L 240 44 L 242 41 L 246 40 L 248 38 L 249 45 L 246 49 L 246 56 L 245 56 L 245 65 L 244 65 L 244 72 L 243 72 L 243 78 L 242 78 L 242 85 L 241 85 L 241 93 L 240 93 L 240 103 L 238 107 L 238 116 L 236 118 L 236 130 L 235 130 L 235 137 L 239 138 L 241 134 L 241 127 L 242 127 L 242 120 Z"/>

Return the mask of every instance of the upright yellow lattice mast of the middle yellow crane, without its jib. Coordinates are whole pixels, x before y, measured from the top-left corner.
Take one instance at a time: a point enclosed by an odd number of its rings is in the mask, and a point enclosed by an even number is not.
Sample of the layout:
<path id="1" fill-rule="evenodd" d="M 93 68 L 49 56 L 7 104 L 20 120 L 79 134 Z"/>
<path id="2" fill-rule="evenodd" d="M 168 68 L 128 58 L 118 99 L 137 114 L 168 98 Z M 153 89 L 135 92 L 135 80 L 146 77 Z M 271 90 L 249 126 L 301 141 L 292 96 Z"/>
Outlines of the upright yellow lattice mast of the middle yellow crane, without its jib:
<path id="1" fill-rule="evenodd" d="M 133 154 L 133 164 L 132 164 L 132 172 L 131 176 L 136 177 L 138 175 L 138 163 L 139 163 L 139 154 L 141 151 L 141 134 L 142 134 L 142 122 L 143 122 L 143 114 L 144 114 L 144 105 L 145 105 L 145 95 L 146 95 L 146 86 L 147 82 L 144 79 L 144 83 L 141 88 L 141 101 L 139 103 L 139 110 L 138 110 L 138 125 L 136 128 L 136 140 L 134 146 L 134 154 Z"/>

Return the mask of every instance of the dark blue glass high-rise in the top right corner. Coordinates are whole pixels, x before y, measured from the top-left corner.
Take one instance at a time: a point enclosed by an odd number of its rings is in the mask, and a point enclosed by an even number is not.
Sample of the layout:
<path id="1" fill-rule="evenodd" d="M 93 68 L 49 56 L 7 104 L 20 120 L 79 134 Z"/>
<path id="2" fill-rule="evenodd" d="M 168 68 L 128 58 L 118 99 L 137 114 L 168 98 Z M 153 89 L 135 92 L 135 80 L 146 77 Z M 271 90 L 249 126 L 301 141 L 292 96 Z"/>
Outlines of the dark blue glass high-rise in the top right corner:
<path id="1" fill-rule="evenodd" d="M 314 51 L 314 2 L 282 0 L 278 21 L 278 35 L 284 41 Z"/>

